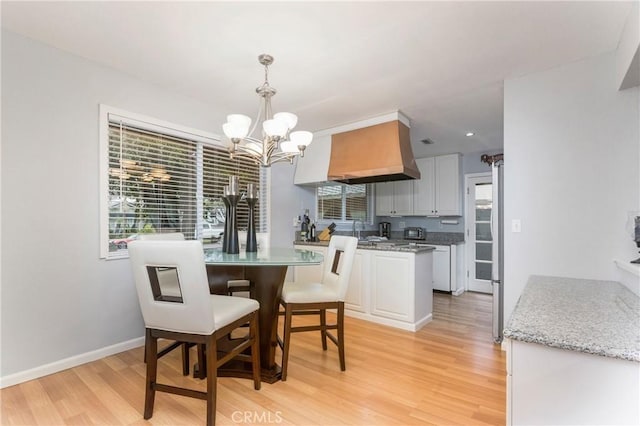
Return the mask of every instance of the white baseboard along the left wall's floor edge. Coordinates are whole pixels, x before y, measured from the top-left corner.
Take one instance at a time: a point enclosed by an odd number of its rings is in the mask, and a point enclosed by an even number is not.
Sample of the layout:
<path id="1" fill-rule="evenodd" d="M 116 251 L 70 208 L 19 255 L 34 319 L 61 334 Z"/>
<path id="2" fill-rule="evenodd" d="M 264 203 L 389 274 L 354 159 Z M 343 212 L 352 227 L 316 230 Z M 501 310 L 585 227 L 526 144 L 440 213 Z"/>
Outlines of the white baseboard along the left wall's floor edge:
<path id="1" fill-rule="evenodd" d="M 50 364 L 41 365 L 29 370 L 20 371 L 18 373 L 0 377 L 0 389 L 7 386 L 13 386 L 19 383 L 27 382 L 29 380 L 37 379 L 39 377 L 48 376 L 49 374 L 77 367 L 78 365 L 86 364 L 87 362 L 105 358 L 107 356 L 114 355 L 120 352 L 128 351 L 129 349 L 137 348 L 142 345 L 144 345 L 144 337 L 136 337 L 135 339 L 127 340 L 126 342 L 116 343 L 115 345 L 106 346 L 104 348 L 96 349 L 95 351 L 86 352 L 80 355 L 74 355 L 72 357 L 61 359 Z"/>

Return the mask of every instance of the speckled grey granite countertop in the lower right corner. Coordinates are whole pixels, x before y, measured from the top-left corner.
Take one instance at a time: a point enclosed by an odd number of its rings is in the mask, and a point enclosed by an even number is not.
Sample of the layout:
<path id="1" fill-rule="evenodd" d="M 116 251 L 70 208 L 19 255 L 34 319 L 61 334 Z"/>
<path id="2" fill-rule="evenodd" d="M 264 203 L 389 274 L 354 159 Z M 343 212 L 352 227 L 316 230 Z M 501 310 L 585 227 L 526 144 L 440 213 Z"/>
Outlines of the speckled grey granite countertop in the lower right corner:
<path id="1" fill-rule="evenodd" d="M 504 336 L 640 362 L 640 297 L 615 281 L 534 275 Z"/>

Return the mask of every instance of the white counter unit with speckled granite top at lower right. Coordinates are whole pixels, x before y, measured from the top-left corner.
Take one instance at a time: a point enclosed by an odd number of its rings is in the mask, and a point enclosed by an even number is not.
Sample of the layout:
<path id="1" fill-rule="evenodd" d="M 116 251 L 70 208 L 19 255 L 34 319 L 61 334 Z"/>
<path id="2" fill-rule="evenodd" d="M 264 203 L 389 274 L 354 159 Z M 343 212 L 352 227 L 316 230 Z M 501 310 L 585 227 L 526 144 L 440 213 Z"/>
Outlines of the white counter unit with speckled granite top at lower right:
<path id="1" fill-rule="evenodd" d="M 532 276 L 504 330 L 507 424 L 640 424 L 640 299 Z"/>

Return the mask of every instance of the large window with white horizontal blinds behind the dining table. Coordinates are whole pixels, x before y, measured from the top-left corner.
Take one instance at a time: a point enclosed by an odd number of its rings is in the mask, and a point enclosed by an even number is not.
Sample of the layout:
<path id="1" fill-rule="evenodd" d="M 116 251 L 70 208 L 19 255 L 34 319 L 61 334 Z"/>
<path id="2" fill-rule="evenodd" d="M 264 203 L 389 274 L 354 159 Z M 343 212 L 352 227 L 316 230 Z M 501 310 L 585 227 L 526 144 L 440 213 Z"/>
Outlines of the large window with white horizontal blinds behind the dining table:
<path id="1" fill-rule="evenodd" d="M 214 137 L 106 106 L 101 126 L 102 257 L 128 255 L 127 244 L 141 233 L 181 232 L 219 243 L 230 175 L 239 176 L 240 188 L 261 189 L 255 219 L 257 230 L 266 230 L 265 172 L 251 161 L 231 160 Z M 248 205 L 240 202 L 238 228 L 246 229 L 247 221 Z"/>

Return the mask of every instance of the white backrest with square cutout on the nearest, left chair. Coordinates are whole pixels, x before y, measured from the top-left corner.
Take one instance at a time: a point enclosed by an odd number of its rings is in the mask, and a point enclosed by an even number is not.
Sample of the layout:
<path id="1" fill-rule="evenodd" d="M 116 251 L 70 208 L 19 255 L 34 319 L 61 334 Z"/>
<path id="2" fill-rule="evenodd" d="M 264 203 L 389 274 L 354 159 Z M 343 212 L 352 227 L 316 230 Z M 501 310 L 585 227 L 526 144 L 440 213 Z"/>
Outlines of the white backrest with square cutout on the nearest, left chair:
<path id="1" fill-rule="evenodd" d="M 215 331 L 209 282 L 200 241 L 132 241 L 129 257 L 147 328 L 183 333 Z M 178 282 L 178 296 L 159 281 Z"/>

